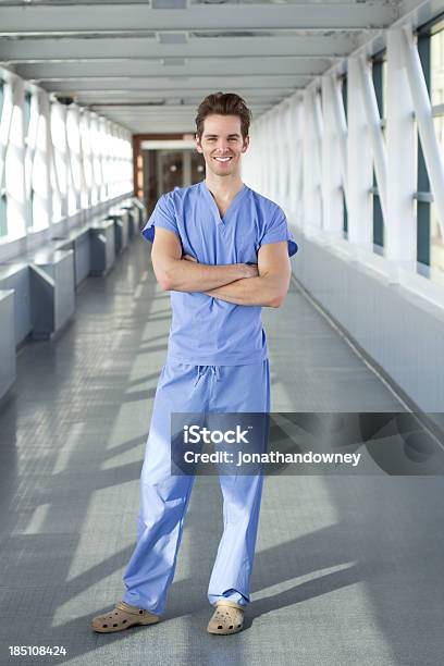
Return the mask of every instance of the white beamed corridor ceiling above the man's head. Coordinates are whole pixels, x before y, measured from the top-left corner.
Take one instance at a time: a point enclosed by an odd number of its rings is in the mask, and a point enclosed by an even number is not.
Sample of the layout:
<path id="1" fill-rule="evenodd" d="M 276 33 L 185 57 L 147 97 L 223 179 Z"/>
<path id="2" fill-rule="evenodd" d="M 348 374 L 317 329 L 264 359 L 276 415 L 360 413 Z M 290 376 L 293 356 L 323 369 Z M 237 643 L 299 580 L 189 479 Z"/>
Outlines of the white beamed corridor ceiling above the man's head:
<path id="1" fill-rule="evenodd" d="M 0 0 L 0 64 L 133 133 L 194 132 L 209 92 L 254 118 L 444 0 Z"/>

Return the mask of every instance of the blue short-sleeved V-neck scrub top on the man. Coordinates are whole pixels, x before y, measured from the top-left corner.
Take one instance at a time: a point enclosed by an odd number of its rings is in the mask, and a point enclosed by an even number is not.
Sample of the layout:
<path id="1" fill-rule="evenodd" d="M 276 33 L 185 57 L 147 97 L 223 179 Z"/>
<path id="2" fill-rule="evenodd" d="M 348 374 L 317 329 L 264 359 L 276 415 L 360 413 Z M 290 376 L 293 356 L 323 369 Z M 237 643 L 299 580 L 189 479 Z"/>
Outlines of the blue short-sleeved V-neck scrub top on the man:
<path id="1" fill-rule="evenodd" d="M 221 218 L 205 181 L 160 197 L 141 230 L 151 243 L 155 227 L 174 232 L 183 254 L 199 263 L 257 263 L 267 243 L 298 249 L 282 209 L 244 185 Z M 260 306 L 226 303 L 202 292 L 171 292 L 173 318 L 168 360 L 195 366 L 242 366 L 268 358 Z"/>

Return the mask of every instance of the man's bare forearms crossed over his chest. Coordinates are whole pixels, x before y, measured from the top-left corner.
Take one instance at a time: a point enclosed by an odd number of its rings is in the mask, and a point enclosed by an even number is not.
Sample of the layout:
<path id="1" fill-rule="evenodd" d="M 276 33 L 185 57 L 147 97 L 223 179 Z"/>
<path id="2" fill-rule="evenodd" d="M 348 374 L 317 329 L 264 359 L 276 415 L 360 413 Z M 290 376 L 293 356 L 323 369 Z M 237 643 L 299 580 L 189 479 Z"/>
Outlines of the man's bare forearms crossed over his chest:
<path id="1" fill-rule="evenodd" d="M 151 250 L 156 279 L 163 291 L 202 292 L 227 303 L 276 308 L 284 301 L 291 278 L 287 242 L 262 245 L 258 266 L 207 266 L 182 257 L 177 236 L 156 229 Z"/>

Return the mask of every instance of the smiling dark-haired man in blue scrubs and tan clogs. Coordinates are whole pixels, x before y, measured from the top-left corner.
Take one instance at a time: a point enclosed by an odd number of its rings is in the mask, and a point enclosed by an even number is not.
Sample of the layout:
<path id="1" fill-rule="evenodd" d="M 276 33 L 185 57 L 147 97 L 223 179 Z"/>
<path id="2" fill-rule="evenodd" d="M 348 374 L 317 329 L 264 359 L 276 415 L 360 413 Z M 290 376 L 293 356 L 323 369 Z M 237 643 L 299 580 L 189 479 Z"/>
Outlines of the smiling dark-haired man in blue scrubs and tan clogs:
<path id="1" fill-rule="evenodd" d="M 151 416 L 140 478 L 137 544 L 126 592 L 92 629 L 156 624 L 173 580 L 193 474 L 171 474 L 171 412 L 269 412 L 270 371 L 261 307 L 279 307 L 297 251 L 281 208 L 240 178 L 250 112 L 234 94 L 199 106 L 196 148 L 205 181 L 160 197 L 143 235 L 173 311 L 168 356 Z M 224 531 L 208 600 L 210 633 L 240 631 L 250 602 L 263 476 L 219 477 Z"/>

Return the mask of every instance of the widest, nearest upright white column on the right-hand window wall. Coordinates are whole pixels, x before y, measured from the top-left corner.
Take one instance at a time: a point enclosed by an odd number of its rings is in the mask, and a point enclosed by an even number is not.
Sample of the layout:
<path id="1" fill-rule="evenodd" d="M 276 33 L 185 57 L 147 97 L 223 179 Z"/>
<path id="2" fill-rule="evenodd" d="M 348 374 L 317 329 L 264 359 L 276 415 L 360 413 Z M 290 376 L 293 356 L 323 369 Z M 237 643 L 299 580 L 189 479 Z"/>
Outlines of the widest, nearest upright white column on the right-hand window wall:
<path id="1" fill-rule="evenodd" d="M 402 53 L 402 28 L 387 30 L 387 260 L 416 270 L 414 102 Z M 398 281 L 397 271 L 392 279 Z"/>

